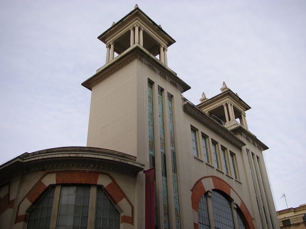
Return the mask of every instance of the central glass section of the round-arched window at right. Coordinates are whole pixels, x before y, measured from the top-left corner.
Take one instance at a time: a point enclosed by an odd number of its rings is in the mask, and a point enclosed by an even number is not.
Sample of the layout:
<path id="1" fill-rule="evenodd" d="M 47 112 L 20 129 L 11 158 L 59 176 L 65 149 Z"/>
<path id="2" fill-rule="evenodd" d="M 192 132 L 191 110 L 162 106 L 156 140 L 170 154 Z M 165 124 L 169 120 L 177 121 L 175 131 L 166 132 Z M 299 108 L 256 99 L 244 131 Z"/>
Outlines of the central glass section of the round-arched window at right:
<path id="1" fill-rule="evenodd" d="M 233 212 L 230 201 L 227 200 L 222 194 L 213 190 L 211 205 L 215 228 L 234 229 Z"/>

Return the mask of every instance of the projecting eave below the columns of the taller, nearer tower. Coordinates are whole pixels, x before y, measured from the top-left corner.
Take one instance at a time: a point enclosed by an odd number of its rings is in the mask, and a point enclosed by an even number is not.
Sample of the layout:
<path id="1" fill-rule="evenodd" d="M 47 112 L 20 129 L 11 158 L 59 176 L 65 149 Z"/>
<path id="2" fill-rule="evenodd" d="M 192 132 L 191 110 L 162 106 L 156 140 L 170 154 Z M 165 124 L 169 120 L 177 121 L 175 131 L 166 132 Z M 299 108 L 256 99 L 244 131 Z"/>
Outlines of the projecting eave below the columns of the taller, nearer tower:
<path id="1" fill-rule="evenodd" d="M 172 83 L 176 87 L 181 87 L 182 92 L 185 92 L 191 88 L 183 80 L 177 77 L 177 74 L 174 71 L 172 71 L 169 67 L 159 61 L 155 56 L 153 56 L 139 44 L 134 44 L 132 47 L 125 50 L 125 52 L 121 53 L 119 56 L 117 56 L 107 64 L 103 65 L 97 70 L 97 73 L 95 75 L 85 80 L 81 85 L 91 90 L 93 86 L 103 81 L 104 79 L 112 75 L 114 72 L 118 71 L 123 66 L 129 64 L 136 58 L 140 60 L 143 60 L 143 58 L 145 58 L 150 68 L 158 70 L 159 74 L 162 77 L 168 77 L 170 83 Z"/>

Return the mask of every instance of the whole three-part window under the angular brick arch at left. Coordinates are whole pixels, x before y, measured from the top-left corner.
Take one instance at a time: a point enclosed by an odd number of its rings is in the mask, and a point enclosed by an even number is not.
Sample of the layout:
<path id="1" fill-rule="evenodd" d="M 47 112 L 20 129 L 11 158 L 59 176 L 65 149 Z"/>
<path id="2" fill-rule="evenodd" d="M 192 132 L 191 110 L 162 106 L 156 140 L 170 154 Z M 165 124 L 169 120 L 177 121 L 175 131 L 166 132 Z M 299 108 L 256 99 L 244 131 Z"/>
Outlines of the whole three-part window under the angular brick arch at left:
<path id="1" fill-rule="evenodd" d="M 30 210 L 27 229 L 86 229 L 89 224 L 95 229 L 120 228 L 120 213 L 103 187 L 57 185 Z"/>

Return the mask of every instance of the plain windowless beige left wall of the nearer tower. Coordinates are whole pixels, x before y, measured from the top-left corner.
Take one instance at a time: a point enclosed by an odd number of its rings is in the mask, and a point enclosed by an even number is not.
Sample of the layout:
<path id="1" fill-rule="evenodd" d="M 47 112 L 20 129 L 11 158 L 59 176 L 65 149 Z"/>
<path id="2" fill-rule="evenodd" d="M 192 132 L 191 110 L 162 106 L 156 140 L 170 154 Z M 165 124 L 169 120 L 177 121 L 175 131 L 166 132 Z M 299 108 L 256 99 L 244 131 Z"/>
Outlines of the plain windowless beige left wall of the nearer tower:
<path id="1" fill-rule="evenodd" d="M 93 86 L 88 147 L 136 155 L 137 84 L 134 60 Z"/>

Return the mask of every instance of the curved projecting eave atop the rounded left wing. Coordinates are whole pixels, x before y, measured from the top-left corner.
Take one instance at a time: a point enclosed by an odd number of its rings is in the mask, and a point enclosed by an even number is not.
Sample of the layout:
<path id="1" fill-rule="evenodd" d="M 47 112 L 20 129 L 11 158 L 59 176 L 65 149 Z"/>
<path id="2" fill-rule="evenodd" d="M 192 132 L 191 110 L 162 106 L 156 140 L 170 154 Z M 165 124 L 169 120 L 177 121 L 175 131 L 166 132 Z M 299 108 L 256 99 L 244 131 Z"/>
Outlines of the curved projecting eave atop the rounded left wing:
<path id="1" fill-rule="evenodd" d="M 52 169 L 99 169 L 135 177 L 144 169 L 136 157 L 95 147 L 59 147 L 24 153 L 0 166 L 0 185 L 15 176 Z M 5 176 L 4 176 L 5 174 Z"/>

